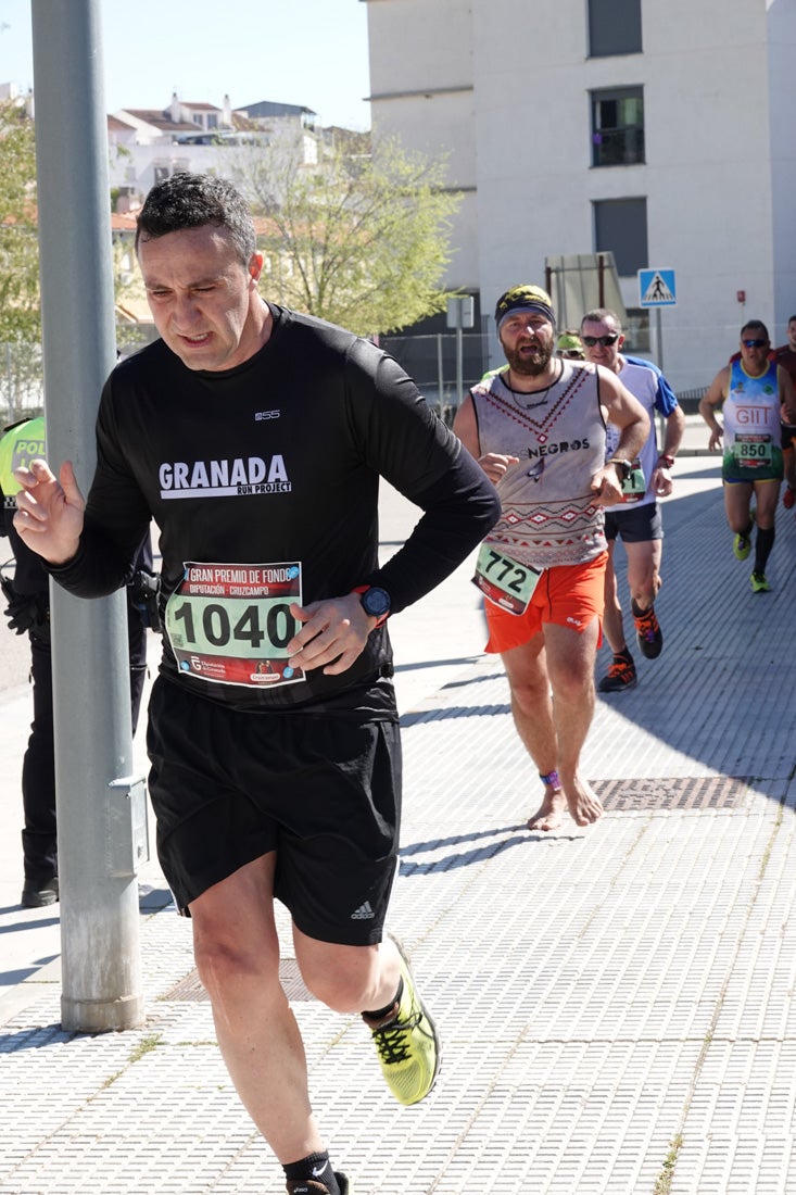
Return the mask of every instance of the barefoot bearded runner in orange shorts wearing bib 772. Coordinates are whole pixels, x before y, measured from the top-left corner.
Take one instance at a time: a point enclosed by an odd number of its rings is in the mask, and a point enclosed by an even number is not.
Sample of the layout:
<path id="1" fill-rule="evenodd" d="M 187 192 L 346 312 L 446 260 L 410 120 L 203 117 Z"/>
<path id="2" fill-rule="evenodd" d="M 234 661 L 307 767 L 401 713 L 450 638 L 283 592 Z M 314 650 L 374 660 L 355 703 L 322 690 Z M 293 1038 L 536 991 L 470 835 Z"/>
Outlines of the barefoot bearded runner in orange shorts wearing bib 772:
<path id="1" fill-rule="evenodd" d="M 488 651 L 500 652 L 518 734 L 545 792 L 529 829 L 569 811 L 578 826 L 602 805 L 580 774 L 594 712 L 607 547 L 604 507 L 649 433 L 642 405 L 616 374 L 556 356 L 550 296 L 507 290 L 495 312 L 508 368 L 473 386 L 454 431 L 497 486 L 502 514 L 482 545 Z M 620 429 L 605 460 L 607 417 Z"/>

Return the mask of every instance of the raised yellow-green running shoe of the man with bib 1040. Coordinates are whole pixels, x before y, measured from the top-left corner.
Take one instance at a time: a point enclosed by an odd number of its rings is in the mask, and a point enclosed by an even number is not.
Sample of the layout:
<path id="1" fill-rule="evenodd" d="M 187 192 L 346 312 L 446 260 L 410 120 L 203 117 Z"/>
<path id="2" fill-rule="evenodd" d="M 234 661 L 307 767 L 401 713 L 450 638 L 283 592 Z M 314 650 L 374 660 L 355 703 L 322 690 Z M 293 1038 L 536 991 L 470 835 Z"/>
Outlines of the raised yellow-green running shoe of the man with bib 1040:
<path id="1" fill-rule="evenodd" d="M 375 1029 L 371 1025 L 371 1034 L 387 1086 L 398 1103 L 409 1105 L 424 1099 L 434 1086 L 440 1070 L 440 1043 L 436 1027 L 417 994 L 404 949 L 396 938 L 392 940 L 400 955 L 404 986 L 394 1012 Z"/>

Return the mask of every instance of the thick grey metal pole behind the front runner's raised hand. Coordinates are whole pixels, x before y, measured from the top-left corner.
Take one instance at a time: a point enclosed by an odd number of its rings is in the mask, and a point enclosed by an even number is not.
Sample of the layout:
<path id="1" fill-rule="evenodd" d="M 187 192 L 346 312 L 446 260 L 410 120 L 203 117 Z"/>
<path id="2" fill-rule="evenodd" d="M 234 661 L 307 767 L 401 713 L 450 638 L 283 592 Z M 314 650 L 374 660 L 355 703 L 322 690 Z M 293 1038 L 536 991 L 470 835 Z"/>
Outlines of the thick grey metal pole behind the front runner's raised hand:
<path id="1" fill-rule="evenodd" d="M 48 455 L 86 491 L 116 358 L 99 0 L 31 0 Z M 50 586 L 65 1029 L 143 1019 L 127 603 Z"/>

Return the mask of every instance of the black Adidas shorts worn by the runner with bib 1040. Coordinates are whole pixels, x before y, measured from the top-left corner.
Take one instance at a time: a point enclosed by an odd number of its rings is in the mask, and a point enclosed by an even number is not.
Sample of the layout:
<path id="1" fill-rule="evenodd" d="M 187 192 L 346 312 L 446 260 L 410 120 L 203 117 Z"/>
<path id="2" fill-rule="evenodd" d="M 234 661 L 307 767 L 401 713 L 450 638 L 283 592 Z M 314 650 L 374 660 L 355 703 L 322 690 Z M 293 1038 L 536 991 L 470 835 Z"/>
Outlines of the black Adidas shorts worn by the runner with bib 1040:
<path id="1" fill-rule="evenodd" d="M 240 711 L 158 678 L 147 749 L 158 857 L 180 911 L 276 851 L 275 894 L 302 933 L 381 940 L 398 859 L 397 716 Z"/>

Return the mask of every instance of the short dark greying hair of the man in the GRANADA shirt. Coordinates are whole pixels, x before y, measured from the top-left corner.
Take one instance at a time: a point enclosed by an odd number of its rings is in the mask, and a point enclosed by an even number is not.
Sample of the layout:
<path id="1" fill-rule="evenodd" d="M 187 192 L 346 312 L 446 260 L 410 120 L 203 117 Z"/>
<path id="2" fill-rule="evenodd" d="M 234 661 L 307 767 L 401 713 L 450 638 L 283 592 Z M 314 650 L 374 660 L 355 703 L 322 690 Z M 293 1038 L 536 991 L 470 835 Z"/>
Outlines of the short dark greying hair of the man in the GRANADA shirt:
<path id="1" fill-rule="evenodd" d="M 182 172 L 155 183 L 137 216 L 135 251 L 141 240 L 204 225 L 226 228 L 241 263 L 249 265 L 257 249 L 249 204 L 232 183 L 214 174 Z"/>

